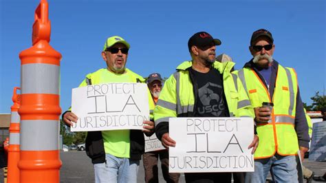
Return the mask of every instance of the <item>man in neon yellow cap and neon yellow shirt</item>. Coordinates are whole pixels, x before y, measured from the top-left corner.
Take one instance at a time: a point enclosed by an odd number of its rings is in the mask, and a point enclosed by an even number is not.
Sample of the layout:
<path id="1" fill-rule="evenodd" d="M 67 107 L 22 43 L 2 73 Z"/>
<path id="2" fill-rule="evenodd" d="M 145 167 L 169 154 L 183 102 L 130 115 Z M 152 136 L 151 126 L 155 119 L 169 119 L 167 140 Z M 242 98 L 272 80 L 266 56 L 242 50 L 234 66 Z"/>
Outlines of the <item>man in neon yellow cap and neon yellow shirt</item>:
<path id="1" fill-rule="evenodd" d="M 120 36 L 111 36 L 102 51 L 107 68 L 87 74 L 79 87 L 100 83 L 144 83 L 144 78 L 126 68 L 130 45 Z M 150 92 L 148 92 L 151 98 Z M 114 105 L 114 104 L 112 104 Z M 153 100 L 149 100 L 153 111 Z M 150 115 L 151 120 L 153 115 Z M 63 121 L 71 126 L 78 116 L 70 110 L 63 114 Z M 142 153 L 144 135 L 153 134 L 154 122 L 144 121 L 142 131 L 134 129 L 111 131 L 88 131 L 85 140 L 86 153 L 94 164 L 95 182 L 137 182 L 137 173 Z"/>

